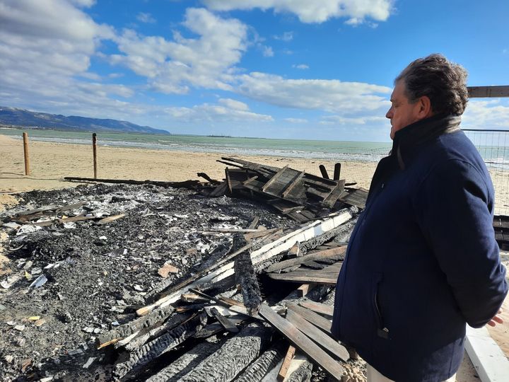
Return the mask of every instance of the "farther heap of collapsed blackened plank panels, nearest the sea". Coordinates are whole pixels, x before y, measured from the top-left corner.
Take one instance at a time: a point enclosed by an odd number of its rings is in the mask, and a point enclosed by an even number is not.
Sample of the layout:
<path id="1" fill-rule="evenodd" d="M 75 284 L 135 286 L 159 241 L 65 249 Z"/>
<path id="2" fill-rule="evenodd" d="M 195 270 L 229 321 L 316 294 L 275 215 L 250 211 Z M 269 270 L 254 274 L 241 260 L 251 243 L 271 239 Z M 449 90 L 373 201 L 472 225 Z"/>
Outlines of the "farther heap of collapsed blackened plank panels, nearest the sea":
<path id="1" fill-rule="evenodd" d="M 206 195 L 262 199 L 299 223 L 348 206 L 363 208 L 368 196 L 367 190 L 346 187 L 345 180 L 339 179 L 340 163 L 334 167 L 334 176 L 330 179 L 323 165 L 320 177 L 288 166 L 278 168 L 240 158 L 222 157 L 218 162 L 230 167 L 225 170 L 223 183 L 205 192 Z"/>

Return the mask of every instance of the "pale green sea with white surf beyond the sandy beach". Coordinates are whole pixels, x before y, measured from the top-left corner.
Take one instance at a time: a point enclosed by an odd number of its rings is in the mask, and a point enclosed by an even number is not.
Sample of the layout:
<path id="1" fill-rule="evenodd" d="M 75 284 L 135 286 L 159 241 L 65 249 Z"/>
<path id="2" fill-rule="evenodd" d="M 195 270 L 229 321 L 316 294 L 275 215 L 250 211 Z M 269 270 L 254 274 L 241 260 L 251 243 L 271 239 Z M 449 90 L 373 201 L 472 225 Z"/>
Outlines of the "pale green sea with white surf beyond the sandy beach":
<path id="1" fill-rule="evenodd" d="M 53 129 L 0 128 L 0 134 L 21 139 L 28 132 L 33 141 L 91 144 L 91 132 Z M 509 132 L 465 131 L 488 168 L 509 170 Z M 136 147 L 188 152 L 217 152 L 230 155 L 282 156 L 331 161 L 378 162 L 389 154 L 392 142 L 317 141 L 310 139 L 269 139 L 179 134 L 99 132 L 99 146 Z"/>

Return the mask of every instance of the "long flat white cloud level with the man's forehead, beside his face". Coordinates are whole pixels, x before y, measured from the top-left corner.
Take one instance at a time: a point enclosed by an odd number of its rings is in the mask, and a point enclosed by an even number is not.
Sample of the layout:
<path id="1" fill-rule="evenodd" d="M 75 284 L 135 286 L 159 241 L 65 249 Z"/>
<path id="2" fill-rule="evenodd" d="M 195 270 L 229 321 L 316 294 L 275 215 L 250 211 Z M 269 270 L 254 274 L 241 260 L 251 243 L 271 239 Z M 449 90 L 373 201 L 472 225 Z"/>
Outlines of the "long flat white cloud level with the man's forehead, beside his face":
<path id="1" fill-rule="evenodd" d="M 237 91 L 283 108 L 324 110 L 327 112 L 368 112 L 388 108 L 391 88 L 361 82 L 320 79 L 284 79 L 281 76 L 254 72 L 239 76 Z M 385 112 L 384 114 L 385 115 Z"/>

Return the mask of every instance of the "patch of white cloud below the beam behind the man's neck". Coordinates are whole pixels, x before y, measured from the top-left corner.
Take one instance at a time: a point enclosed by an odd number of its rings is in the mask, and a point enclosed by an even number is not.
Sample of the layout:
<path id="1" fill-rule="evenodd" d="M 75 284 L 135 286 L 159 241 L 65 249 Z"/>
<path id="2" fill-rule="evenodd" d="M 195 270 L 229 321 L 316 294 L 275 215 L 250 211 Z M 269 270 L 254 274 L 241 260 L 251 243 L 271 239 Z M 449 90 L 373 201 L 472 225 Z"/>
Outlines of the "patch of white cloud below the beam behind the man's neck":
<path id="1" fill-rule="evenodd" d="M 508 100 L 469 100 L 462 117 L 465 129 L 509 129 Z"/>

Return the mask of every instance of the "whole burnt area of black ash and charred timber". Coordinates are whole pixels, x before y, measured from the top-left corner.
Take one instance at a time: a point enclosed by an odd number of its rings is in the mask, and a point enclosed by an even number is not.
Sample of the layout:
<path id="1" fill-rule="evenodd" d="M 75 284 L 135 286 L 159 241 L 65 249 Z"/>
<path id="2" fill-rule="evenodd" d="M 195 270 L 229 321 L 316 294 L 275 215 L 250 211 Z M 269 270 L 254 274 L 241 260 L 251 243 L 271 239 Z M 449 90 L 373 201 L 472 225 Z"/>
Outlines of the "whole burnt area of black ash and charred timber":
<path id="1" fill-rule="evenodd" d="M 194 190 L 19 195 L 0 212 L 1 380 L 363 381 L 330 325 L 365 191 L 254 165 Z"/>

